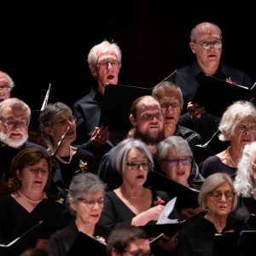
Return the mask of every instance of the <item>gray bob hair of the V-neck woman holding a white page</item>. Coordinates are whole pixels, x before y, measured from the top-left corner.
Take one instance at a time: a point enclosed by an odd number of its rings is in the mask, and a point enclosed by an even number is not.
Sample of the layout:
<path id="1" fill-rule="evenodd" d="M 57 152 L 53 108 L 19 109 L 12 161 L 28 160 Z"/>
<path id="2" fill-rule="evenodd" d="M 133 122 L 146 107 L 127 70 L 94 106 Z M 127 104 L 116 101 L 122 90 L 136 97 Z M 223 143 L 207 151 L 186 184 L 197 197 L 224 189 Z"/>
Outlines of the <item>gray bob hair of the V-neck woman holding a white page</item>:
<path id="1" fill-rule="evenodd" d="M 114 152 L 111 154 L 111 166 L 114 170 L 119 172 L 122 177 L 126 166 L 127 155 L 131 148 L 139 149 L 148 158 L 148 161 L 150 162 L 150 168 L 148 171 L 151 171 L 154 168 L 152 154 L 150 153 L 147 145 L 143 143 L 143 141 L 135 138 L 126 138 L 120 143 L 120 146 L 119 144 L 116 146 L 117 150 L 114 150 Z"/>

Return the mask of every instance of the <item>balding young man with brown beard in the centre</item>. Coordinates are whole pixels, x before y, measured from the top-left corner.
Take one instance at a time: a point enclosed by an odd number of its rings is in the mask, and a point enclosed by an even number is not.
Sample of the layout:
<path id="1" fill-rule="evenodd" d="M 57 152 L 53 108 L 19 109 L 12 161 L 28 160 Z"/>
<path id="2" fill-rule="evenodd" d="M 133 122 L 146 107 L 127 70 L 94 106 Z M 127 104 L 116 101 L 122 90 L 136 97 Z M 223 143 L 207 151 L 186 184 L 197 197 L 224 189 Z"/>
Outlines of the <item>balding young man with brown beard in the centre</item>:
<path id="1" fill-rule="evenodd" d="M 151 154 L 155 155 L 157 144 L 164 137 L 164 119 L 160 103 L 153 96 L 141 96 L 131 105 L 130 121 L 133 128 L 128 137 L 141 139 L 146 143 Z M 122 183 L 122 178 L 111 166 L 111 158 L 122 148 L 123 141 L 105 154 L 99 166 L 99 177 L 107 184 L 107 189 L 116 189 Z M 156 162 L 156 161 L 155 161 Z"/>

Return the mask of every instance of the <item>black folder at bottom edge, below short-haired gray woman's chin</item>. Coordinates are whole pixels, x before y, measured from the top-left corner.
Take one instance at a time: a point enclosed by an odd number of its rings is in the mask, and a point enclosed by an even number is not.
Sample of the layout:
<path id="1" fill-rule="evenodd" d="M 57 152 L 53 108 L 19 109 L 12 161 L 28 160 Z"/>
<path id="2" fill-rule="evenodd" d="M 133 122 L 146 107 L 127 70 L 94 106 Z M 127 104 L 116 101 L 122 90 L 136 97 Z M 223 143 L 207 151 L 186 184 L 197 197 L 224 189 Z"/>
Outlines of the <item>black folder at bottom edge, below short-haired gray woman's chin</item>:
<path id="1" fill-rule="evenodd" d="M 67 256 L 96 256 L 96 255 L 107 255 L 106 245 L 101 241 L 97 241 L 95 238 L 85 235 L 79 232 L 79 235 L 73 241 L 73 245 L 69 248 Z"/>

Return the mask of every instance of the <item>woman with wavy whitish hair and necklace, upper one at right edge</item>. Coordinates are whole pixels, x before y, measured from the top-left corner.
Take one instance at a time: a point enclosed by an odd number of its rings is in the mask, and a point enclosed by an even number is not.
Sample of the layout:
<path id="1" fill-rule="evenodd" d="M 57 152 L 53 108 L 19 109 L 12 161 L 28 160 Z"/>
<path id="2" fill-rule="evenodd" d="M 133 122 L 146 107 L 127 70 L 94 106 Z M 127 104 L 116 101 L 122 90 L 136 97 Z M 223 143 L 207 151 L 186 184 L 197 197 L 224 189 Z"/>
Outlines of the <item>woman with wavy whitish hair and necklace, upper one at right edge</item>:
<path id="1" fill-rule="evenodd" d="M 230 141 L 230 146 L 208 157 L 201 174 L 208 177 L 212 173 L 223 172 L 234 179 L 244 146 L 256 139 L 256 108 L 253 103 L 238 101 L 230 105 L 220 120 L 218 130 L 219 140 Z"/>

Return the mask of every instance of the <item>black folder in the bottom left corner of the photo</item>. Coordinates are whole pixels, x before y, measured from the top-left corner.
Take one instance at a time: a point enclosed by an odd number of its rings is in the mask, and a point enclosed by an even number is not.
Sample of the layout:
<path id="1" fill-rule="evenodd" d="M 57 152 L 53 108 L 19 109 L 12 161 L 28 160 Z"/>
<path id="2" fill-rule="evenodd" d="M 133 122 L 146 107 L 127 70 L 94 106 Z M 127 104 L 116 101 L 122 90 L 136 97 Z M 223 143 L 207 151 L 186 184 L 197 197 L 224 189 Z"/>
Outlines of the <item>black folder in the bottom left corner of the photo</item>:
<path id="1" fill-rule="evenodd" d="M 26 230 L 22 235 L 15 238 L 15 240 L 0 244 L 0 255 L 17 256 L 23 253 L 27 247 L 34 247 L 38 240 L 42 223 L 43 221 L 41 220 Z"/>

